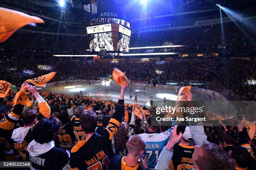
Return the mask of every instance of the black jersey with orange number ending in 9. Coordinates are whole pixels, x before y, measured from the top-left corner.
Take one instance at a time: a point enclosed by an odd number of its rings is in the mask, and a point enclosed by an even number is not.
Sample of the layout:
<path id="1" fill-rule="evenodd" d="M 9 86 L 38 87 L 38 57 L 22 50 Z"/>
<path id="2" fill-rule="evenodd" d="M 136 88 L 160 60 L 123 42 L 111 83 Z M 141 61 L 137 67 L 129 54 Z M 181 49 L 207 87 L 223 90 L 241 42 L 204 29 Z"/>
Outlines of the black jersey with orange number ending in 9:
<path id="1" fill-rule="evenodd" d="M 57 133 L 60 148 L 67 149 L 75 145 L 76 138 L 74 136 L 73 129 L 74 127 L 72 127 L 69 123 L 61 127 Z"/>

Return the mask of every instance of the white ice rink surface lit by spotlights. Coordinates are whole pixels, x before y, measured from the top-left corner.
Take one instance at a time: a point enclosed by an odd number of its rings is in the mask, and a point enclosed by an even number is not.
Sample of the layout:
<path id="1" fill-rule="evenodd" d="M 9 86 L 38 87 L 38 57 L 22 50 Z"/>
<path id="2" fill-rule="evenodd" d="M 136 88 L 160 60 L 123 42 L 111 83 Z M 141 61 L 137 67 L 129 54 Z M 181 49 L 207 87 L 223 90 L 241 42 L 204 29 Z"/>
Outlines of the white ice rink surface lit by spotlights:
<path id="1" fill-rule="evenodd" d="M 99 100 L 104 99 L 106 101 L 113 100 L 118 101 L 120 97 L 120 86 L 116 84 L 104 84 L 104 83 L 95 83 L 91 82 L 91 85 L 88 82 L 72 82 L 72 84 L 60 84 L 58 87 L 46 86 L 41 90 L 51 91 L 57 93 L 64 93 L 73 95 L 74 93 L 80 94 L 82 91 L 83 95 L 89 95 L 90 97 L 97 98 Z M 130 89 L 132 98 L 130 99 Z M 179 89 L 178 89 L 179 90 Z M 137 95 L 137 103 L 142 107 L 145 105 L 149 107 L 150 94 L 153 94 L 153 101 L 161 101 L 164 104 L 163 99 L 166 97 L 166 100 L 176 100 L 177 94 L 175 89 L 169 89 L 164 87 L 146 87 L 146 91 L 143 92 L 143 87 L 141 86 L 141 91 L 138 90 L 138 86 L 129 85 L 125 90 L 124 100 L 125 103 L 133 104 L 134 97 Z M 207 94 L 209 95 L 209 94 Z M 211 95 L 212 97 L 212 95 Z M 212 97 L 213 98 L 213 97 Z M 228 105 L 216 96 L 215 99 L 212 99 L 210 104 L 205 103 L 206 94 L 204 92 L 193 91 L 192 100 L 202 101 L 207 107 L 207 109 L 213 113 L 219 115 L 229 115 L 232 116 L 234 111 L 232 107 Z M 163 106 L 158 106 L 163 107 Z"/>

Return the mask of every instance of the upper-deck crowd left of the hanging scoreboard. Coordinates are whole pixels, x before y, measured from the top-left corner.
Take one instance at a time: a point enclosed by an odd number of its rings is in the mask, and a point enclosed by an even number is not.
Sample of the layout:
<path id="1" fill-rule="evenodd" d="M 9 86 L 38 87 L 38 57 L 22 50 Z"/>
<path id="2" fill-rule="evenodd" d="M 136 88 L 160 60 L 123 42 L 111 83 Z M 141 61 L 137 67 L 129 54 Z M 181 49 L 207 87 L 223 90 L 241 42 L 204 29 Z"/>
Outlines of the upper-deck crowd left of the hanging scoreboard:
<path id="1" fill-rule="evenodd" d="M 1 43 L 1 54 L 6 56 L 51 56 L 53 54 L 86 54 L 87 37 L 15 32 Z"/>

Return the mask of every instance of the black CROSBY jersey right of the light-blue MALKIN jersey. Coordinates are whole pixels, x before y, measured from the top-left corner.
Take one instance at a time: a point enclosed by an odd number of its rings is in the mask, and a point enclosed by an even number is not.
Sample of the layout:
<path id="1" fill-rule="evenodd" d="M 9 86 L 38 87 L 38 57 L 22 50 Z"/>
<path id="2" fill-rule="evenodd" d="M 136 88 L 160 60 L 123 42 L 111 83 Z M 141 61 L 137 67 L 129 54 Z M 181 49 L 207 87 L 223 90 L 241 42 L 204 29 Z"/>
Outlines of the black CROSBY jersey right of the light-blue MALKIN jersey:
<path id="1" fill-rule="evenodd" d="M 195 151 L 194 146 L 186 146 L 182 144 L 174 145 L 172 161 L 169 164 L 169 170 L 191 170 L 194 168 L 192 164 L 192 154 Z"/>

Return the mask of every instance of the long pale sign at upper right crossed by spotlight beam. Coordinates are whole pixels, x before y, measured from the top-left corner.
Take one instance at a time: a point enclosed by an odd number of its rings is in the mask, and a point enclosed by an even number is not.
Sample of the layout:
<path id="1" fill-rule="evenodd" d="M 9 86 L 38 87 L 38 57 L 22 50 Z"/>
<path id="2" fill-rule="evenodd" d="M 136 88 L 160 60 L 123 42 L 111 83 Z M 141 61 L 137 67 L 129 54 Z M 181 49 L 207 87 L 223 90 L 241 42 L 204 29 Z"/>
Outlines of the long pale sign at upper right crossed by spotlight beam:
<path id="1" fill-rule="evenodd" d="M 231 22 L 233 20 L 241 20 L 241 19 L 242 19 L 242 15 L 235 15 L 235 16 L 231 16 L 231 18 L 230 17 L 222 18 L 222 22 L 227 23 L 227 22 Z M 221 19 L 216 18 L 216 19 L 212 19 L 212 20 L 195 21 L 195 26 L 198 26 L 198 25 L 212 25 L 212 24 L 219 24 L 219 23 L 221 23 Z"/>

